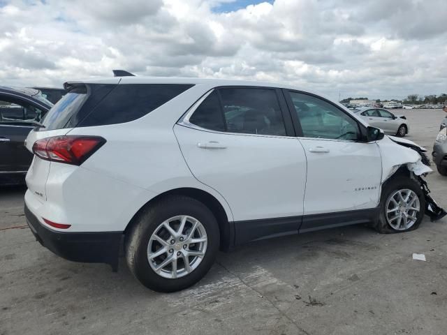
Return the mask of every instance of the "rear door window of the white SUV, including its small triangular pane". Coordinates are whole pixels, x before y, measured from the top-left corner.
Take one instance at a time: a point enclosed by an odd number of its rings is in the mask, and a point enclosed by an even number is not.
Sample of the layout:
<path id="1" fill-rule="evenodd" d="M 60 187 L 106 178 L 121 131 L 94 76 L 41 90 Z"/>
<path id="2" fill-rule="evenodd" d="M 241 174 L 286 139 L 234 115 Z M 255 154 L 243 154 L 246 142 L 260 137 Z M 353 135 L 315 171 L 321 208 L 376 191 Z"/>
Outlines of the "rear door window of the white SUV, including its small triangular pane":
<path id="1" fill-rule="evenodd" d="M 189 118 L 212 131 L 286 135 L 277 94 L 273 89 L 216 89 Z"/>

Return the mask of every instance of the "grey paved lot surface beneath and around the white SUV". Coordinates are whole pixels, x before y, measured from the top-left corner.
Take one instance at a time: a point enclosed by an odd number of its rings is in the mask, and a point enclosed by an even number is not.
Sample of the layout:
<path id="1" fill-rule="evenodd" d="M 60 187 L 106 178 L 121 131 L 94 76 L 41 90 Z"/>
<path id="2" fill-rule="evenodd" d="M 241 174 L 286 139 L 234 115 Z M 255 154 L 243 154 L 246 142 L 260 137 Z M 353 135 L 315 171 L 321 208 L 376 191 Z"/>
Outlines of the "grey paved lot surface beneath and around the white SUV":
<path id="1" fill-rule="evenodd" d="M 431 151 L 444 112 L 394 112 Z M 447 207 L 447 177 L 433 168 L 432 196 Z M 192 288 L 160 294 L 124 259 L 114 273 L 43 248 L 24 191 L 0 191 L 0 335 L 447 333 L 446 218 L 402 234 L 356 225 L 254 242 L 219 253 Z"/>

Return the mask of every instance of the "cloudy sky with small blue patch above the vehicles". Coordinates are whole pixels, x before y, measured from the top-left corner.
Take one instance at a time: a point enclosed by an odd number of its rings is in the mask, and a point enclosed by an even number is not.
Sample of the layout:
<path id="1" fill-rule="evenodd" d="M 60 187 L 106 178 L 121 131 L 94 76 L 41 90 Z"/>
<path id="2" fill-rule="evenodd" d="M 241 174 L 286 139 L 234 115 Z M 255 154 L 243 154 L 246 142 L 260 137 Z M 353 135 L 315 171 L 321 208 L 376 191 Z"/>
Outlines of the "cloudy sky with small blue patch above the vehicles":
<path id="1" fill-rule="evenodd" d="M 0 0 L 0 84 L 112 69 L 285 82 L 339 97 L 447 93 L 446 0 Z"/>

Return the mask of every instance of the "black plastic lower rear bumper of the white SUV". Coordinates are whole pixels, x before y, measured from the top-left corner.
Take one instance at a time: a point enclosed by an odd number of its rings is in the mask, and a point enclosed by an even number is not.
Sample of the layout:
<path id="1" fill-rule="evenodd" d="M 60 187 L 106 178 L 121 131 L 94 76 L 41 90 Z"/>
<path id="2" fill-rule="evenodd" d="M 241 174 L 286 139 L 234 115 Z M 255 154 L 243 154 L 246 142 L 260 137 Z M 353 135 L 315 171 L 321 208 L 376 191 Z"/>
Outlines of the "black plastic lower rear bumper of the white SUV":
<path id="1" fill-rule="evenodd" d="M 106 263 L 117 271 L 122 232 L 59 232 L 42 225 L 27 204 L 24 213 L 37 241 L 56 255 L 73 262 Z"/>

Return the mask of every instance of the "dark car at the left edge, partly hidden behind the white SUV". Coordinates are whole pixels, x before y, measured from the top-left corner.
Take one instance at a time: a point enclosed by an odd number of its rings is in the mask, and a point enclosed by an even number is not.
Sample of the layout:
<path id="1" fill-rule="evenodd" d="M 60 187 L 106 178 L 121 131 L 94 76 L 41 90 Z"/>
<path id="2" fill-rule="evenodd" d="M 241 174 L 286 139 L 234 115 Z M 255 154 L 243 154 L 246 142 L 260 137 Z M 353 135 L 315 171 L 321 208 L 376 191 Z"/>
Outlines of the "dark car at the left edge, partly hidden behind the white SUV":
<path id="1" fill-rule="evenodd" d="M 0 87 L 0 185 L 24 184 L 33 158 L 24 140 L 51 107 L 36 89 Z"/>

